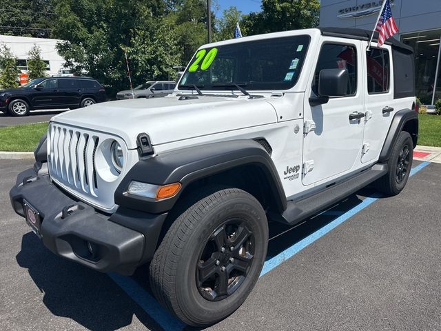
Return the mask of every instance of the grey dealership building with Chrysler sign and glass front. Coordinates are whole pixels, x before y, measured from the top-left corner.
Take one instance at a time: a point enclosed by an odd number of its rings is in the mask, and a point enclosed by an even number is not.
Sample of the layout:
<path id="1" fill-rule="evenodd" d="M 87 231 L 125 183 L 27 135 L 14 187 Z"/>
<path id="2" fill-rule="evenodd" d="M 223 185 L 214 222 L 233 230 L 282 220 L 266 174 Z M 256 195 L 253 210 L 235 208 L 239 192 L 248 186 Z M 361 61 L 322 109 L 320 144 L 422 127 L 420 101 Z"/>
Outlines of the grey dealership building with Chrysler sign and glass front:
<path id="1" fill-rule="evenodd" d="M 416 94 L 422 103 L 441 99 L 441 0 L 390 0 L 396 39 L 413 47 Z M 321 0 L 320 26 L 373 30 L 382 1 Z M 438 71 L 438 72 L 437 72 Z"/>

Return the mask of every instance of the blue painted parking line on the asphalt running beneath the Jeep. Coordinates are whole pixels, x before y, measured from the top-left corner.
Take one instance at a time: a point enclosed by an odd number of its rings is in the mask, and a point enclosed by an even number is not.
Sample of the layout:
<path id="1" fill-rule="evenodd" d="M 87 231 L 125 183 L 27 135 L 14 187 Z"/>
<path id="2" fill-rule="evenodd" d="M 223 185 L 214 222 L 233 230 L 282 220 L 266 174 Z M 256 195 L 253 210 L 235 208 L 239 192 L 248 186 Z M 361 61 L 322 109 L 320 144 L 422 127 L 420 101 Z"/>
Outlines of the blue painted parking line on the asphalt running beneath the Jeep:
<path id="1" fill-rule="evenodd" d="M 429 165 L 430 162 L 423 162 L 417 165 L 415 168 L 412 168 L 410 176 L 413 176 L 420 170 L 422 170 L 424 167 Z M 305 237 L 304 239 L 298 241 L 294 245 L 291 245 L 291 247 L 287 248 L 283 252 L 280 252 L 275 257 L 272 257 L 271 259 L 265 261 L 265 264 L 263 265 L 262 272 L 260 272 L 260 277 L 262 277 L 264 274 L 267 274 L 267 272 L 273 270 L 276 268 L 280 263 L 283 263 L 283 261 L 286 261 L 287 259 L 290 259 L 291 257 L 294 257 L 295 254 L 300 252 L 303 248 L 307 247 L 311 243 L 314 243 L 314 241 L 320 239 L 325 234 L 336 228 L 341 223 L 347 221 L 347 219 L 353 217 L 353 215 L 357 214 L 361 210 L 367 208 L 369 205 L 377 201 L 381 196 L 375 195 L 374 197 L 366 198 L 360 203 L 359 205 L 356 205 L 356 207 L 347 210 L 347 212 L 336 212 L 336 211 L 327 211 L 323 212 L 325 215 L 331 215 L 331 216 L 338 216 L 334 221 L 331 221 L 331 223 L 328 223 L 324 227 L 320 228 L 316 232 L 313 232 L 309 234 L 308 237 Z M 161 325 L 161 328 L 164 330 L 170 330 L 170 331 L 177 331 L 177 330 L 183 330 L 185 328 L 185 324 L 175 317 L 173 317 L 167 310 L 165 310 L 159 303 L 150 295 L 144 288 L 141 287 L 136 281 L 134 281 L 132 278 L 127 276 L 122 276 L 121 274 L 109 274 L 110 278 L 113 279 L 113 281 L 119 285 L 120 288 L 122 288 L 147 314 L 149 314 L 158 325 Z"/>

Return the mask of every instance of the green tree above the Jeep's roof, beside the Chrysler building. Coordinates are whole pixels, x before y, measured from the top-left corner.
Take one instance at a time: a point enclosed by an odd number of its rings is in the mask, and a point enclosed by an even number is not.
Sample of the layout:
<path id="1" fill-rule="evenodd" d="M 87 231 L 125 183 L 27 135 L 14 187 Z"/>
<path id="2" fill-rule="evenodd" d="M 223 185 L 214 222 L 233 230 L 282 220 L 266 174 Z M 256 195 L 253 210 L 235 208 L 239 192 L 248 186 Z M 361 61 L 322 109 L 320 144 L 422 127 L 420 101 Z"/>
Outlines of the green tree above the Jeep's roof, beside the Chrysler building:
<path id="1" fill-rule="evenodd" d="M 318 26 L 318 0 L 263 0 L 261 8 L 261 12 L 251 12 L 243 19 L 248 35 Z"/>

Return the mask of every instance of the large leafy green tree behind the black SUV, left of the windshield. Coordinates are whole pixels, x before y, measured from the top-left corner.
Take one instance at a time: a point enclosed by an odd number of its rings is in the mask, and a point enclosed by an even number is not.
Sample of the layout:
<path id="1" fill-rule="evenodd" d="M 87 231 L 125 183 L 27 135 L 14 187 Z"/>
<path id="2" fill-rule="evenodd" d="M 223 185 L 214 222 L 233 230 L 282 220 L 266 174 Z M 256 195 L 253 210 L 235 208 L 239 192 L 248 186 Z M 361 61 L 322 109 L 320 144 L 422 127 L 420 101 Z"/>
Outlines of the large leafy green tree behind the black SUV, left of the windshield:
<path id="1" fill-rule="evenodd" d="M 98 79 L 110 94 L 128 86 L 123 49 L 134 84 L 168 77 L 171 70 L 165 67 L 180 64 L 172 57 L 164 61 L 169 48 L 170 54 L 180 50 L 174 50 L 176 39 L 167 32 L 174 25 L 162 19 L 167 12 L 163 0 L 125 1 L 124 6 L 118 0 L 58 0 L 54 10 L 54 36 L 64 40 L 57 49 L 65 66 Z"/>

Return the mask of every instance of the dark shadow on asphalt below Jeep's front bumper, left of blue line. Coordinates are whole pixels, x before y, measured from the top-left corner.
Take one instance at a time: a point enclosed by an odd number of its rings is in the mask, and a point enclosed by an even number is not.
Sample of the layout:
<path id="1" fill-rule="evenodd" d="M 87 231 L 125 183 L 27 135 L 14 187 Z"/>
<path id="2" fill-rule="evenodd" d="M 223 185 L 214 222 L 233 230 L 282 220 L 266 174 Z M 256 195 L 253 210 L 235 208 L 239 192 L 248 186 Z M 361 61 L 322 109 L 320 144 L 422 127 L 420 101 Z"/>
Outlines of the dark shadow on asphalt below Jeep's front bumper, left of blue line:
<path id="1" fill-rule="evenodd" d="M 89 330 L 116 330 L 130 325 L 135 314 L 149 330 L 162 330 L 110 277 L 57 257 L 32 232 L 23 235 L 16 259 L 56 316 Z"/>

